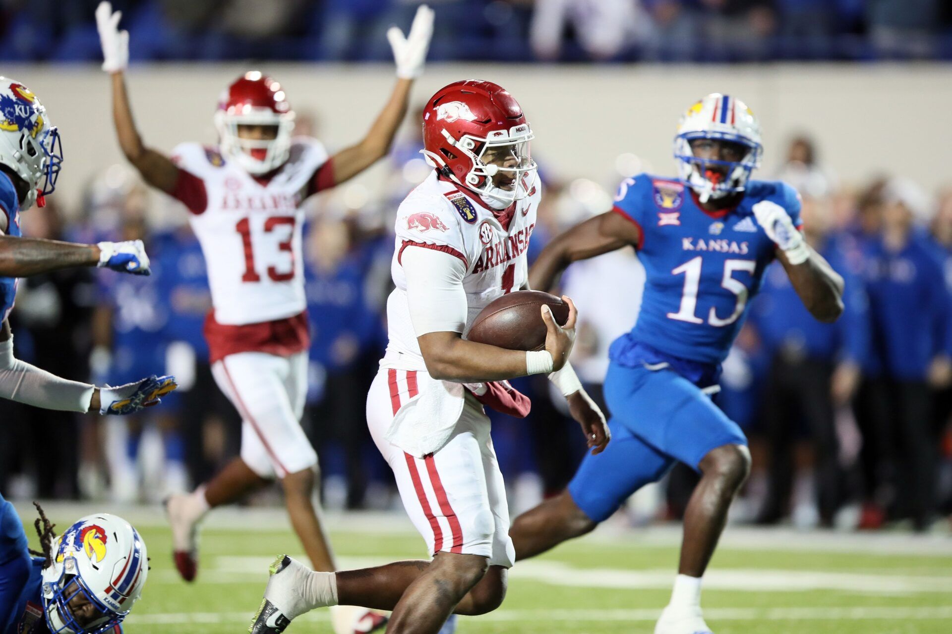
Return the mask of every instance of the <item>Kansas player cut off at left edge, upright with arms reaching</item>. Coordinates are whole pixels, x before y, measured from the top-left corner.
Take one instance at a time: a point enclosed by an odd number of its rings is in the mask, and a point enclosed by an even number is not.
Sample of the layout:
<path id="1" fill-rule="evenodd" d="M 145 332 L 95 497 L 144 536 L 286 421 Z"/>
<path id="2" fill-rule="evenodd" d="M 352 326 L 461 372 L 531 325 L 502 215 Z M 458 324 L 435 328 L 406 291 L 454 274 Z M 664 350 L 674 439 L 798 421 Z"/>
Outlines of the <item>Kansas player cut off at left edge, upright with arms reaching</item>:
<path id="1" fill-rule="evenodd" d="M 98 388 L 50 375 L 13 356 L 7 317 L 18 278 L 70 266 L 149 275 L 141 240 L 70 244 L 20 237 L 20 212 L 34 203 L 43 206 L 62 162 L 59 131 L 46 108 L 29 88 L 0 77 L 0 397 L 64 412 L 132 413 L 174 390 L 174 378 L 151 375 L 117 388 Z"/>

